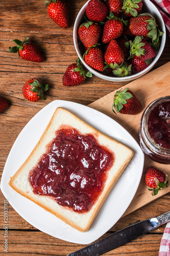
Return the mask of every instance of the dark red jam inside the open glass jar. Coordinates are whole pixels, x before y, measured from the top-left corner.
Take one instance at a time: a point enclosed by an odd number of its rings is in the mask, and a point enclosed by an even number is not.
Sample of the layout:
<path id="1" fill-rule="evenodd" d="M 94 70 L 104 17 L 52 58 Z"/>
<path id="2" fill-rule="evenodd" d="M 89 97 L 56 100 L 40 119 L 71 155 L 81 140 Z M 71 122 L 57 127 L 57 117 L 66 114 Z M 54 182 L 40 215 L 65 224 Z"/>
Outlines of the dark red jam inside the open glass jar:
<path id="1" fill-rule="evenodd" d="M 148 118 L 148 132 L 152 140 L 163 148 L 170 149 L 170 102 L 157 105 Z"/>

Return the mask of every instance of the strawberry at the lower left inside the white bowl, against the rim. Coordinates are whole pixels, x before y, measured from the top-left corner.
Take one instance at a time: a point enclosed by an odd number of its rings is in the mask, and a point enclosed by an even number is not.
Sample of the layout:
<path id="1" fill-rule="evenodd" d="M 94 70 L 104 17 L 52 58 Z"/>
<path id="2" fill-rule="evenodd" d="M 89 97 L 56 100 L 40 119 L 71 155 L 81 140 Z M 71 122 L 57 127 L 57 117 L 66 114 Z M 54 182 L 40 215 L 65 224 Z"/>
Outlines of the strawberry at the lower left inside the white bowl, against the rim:
<path id="1" fill-rule="evenodd" d="M 85 52 L 84 60 L 91 68 L 99 71 L 104 70 L 105 64 L 103 52 L 100 48 L 96 47 L 95 45 Z"/>

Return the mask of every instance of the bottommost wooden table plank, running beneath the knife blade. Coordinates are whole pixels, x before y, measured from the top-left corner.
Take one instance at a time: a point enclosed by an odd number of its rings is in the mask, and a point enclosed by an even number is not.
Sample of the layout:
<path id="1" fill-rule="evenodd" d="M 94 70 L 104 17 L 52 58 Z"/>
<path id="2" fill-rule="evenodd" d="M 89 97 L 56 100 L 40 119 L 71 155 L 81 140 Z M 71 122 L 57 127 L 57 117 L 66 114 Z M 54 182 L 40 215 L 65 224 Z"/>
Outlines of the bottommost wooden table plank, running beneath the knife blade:
<path id="1" fill-rule="evenodd" d="M 1 237 L 3 237 L 4 232 L 0 231 L 0 234 Z M 102 238 L 104 237 L 106 236 Z M 159 251 L 161 237 L 162 234 L 148 233 L 104 255 L 123 256 L 126 254 L 128 256 L 145 256 L 148 253 L 150 256 L 155 256 Z M 3 239 L 1 239 L 0 244 L 0 253 L 3 253 Z M 23 253 L 28 253 L 29 255 L 47 254 L 62 256 L 83 247 L 83 245 L 63 242 L 62 240 L 55 239 L 38 231 L 9 231 L 8 255 L 22 255 Z"/>

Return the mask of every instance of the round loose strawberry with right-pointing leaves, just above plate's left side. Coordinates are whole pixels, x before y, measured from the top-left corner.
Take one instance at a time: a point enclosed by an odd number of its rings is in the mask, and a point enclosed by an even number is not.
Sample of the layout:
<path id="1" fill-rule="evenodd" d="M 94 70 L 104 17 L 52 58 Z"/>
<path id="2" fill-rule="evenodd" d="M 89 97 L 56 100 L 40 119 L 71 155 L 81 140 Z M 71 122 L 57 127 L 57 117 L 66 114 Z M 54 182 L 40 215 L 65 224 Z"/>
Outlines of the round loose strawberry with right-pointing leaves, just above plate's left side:
<path id="1" fill-rule="evenodd" d="M 47 90 L 48 84 L 42 83 L 37 78 L 31 78 L 24 84 L 22 88 L 22 94 L 26 99 L 30 101 L 38 101 L 40 98 L 45 100 L 46 98 L 43 92 L 46 92 Z"/>

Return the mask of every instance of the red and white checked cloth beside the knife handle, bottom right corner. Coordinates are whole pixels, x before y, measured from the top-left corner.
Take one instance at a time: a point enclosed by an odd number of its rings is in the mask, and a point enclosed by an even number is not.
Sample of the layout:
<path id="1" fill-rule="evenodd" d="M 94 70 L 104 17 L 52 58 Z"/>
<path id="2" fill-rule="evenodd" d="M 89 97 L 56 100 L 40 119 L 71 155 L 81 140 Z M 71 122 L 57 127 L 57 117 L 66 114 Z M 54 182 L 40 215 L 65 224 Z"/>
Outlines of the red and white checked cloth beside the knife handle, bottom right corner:
<path id="1" fill-rule="evenodd" d="M 170 222 L 166 224 L 164 229 L 159 248 L 159 256 L 170 256 Z"/>

